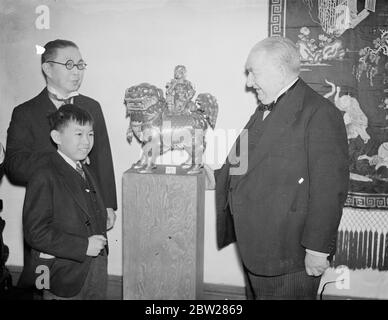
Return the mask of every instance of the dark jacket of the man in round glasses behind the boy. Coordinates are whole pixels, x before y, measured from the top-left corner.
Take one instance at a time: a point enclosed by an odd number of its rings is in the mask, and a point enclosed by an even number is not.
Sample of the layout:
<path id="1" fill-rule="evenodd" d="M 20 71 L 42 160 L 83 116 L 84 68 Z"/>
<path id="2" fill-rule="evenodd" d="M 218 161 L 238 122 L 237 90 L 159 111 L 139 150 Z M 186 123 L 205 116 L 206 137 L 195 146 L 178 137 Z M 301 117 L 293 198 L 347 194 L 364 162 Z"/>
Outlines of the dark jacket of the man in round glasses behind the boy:
<path id="1" fill-rule="evenodd" d="M 106 208 L 116 210 L 112 154 L 100 104 L 83 95 L 74 97 L 74 104 L 88 111 L 94 119 L 95 141 L 89 155 L 90 168 L 101 186 Z M 56 152 L 47 120 L 47 115 L 55 110 L 47 88 L 13 110 L 5 154 L 5 172 L 12 182 L 25 185 L 31 175 L 45 164 L 45 156 Z"/>

